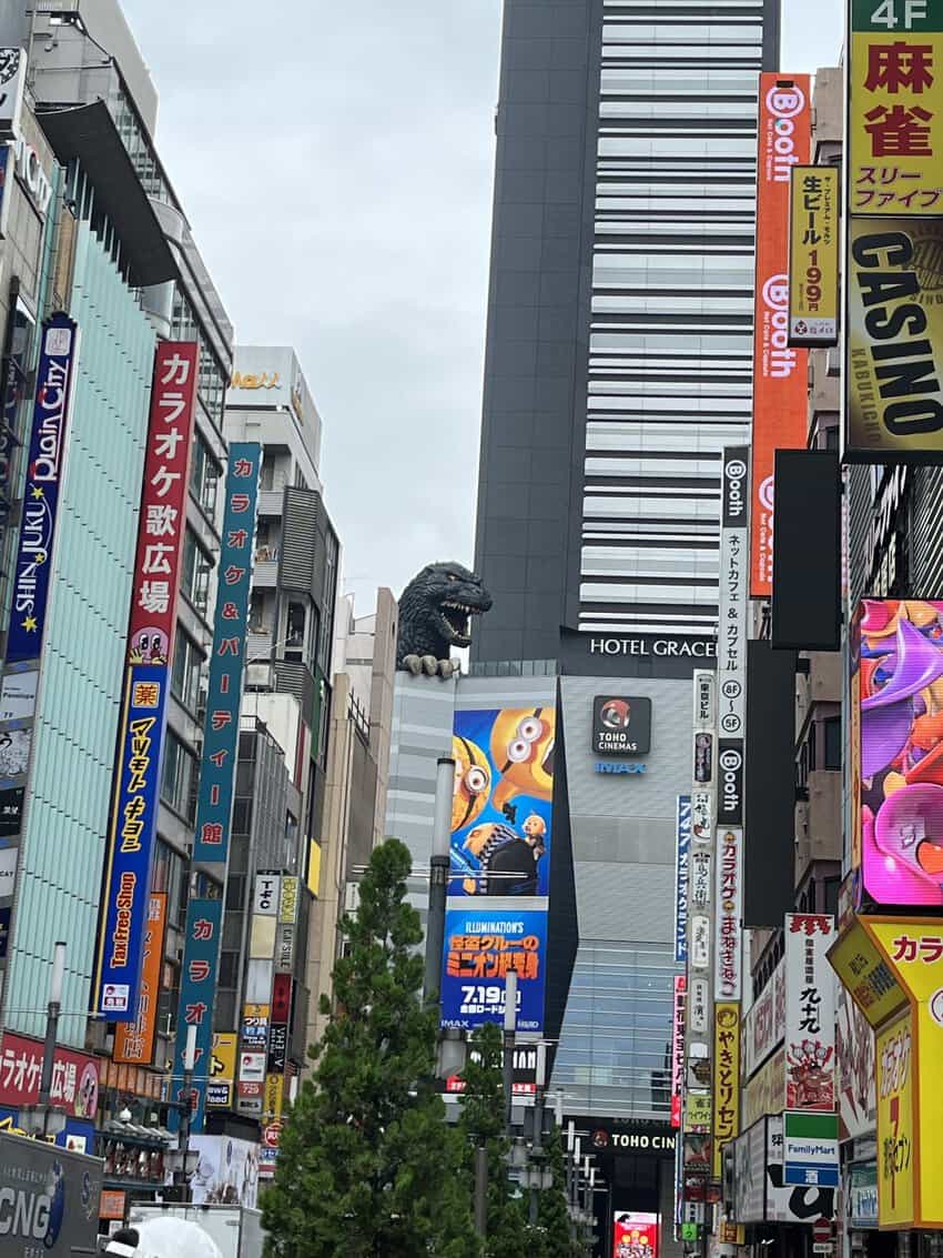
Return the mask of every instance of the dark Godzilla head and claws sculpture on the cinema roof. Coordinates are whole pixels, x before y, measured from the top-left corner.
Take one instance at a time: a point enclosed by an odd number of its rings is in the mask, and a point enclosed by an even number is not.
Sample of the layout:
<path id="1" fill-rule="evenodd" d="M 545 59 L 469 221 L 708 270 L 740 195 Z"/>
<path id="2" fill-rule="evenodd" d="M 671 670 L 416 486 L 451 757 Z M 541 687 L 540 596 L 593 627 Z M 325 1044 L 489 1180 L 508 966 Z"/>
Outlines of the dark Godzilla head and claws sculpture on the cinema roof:
<path id="1" fill-rule="evenodd" d="M 450 652 L 472 644 L 469 618 L 490 605 L 480 577 L 461 564 L 429 564 L 400 596 L 396 667 L 415 676 L 451 677 Z"/>

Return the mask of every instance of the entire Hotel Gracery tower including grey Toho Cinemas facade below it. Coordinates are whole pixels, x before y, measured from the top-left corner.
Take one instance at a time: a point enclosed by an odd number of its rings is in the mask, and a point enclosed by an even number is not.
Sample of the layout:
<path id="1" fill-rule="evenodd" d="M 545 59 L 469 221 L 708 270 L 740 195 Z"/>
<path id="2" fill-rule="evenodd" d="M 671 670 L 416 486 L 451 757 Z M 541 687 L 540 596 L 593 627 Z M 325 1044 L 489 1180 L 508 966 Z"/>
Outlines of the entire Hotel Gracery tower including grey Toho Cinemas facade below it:
<path id="1" fill-rule="evenodd" d="M 560 676 L 572 894 L 551 889 L 551 933 L 578 946 L 548 975 L 568 984 L 551 1087 L 609 1210 L 658 1214 L 666 1255 L 675 852 L 692 674 L 715 654 L 722 450 L 749 442 L 778 36 L 778 0 L 504 6 L 475 547 L 494 606 L 472 671 Z M 617 712 L 637 752 L 609 736 Z"/>

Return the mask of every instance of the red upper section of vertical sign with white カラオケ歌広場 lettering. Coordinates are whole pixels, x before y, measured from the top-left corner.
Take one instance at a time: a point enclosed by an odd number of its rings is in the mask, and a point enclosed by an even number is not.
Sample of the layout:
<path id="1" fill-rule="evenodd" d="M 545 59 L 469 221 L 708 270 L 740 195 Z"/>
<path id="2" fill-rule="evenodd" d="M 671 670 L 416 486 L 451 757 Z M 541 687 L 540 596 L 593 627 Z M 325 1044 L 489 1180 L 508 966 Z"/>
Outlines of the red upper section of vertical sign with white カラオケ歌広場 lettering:
<path id="1" fill-rule="evenodd" d="M 135 593 L 128 628 L 130 664 L 166 664 L 171 660 L 197 371 L 199 346 L 195 341 L 158 343 L 137 528 Z"/>

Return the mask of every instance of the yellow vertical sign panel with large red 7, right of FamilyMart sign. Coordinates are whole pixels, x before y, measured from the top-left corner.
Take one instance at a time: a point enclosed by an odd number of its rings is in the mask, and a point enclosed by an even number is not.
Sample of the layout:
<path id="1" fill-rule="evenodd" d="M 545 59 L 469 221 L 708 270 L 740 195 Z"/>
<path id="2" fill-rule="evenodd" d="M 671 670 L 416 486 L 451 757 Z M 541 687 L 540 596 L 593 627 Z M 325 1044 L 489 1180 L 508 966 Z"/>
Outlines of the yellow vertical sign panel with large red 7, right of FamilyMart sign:
<path id="1" fill-rule="evenodd" d="M 878 1035 L 878 1218 L 914 1222 L 914 1054 L 910 1010 Z"/>

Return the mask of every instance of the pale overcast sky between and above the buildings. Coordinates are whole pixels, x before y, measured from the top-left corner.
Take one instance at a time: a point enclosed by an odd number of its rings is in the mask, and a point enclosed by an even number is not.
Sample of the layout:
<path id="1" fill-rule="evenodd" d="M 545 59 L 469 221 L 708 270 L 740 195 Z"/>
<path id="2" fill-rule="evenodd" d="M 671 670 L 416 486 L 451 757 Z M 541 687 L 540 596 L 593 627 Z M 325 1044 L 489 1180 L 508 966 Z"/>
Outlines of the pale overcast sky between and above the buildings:
<path id="1" fill-rule="evenodd" d="M 473 557 L 500 0 L 123 0 L 157 146 L 246 343 L 294 345 L 357 610 Z M 785 0 L 782 68 L 842 0 Z"/>

